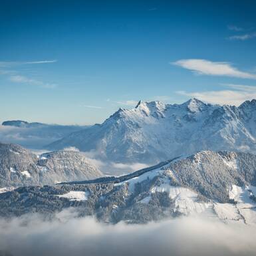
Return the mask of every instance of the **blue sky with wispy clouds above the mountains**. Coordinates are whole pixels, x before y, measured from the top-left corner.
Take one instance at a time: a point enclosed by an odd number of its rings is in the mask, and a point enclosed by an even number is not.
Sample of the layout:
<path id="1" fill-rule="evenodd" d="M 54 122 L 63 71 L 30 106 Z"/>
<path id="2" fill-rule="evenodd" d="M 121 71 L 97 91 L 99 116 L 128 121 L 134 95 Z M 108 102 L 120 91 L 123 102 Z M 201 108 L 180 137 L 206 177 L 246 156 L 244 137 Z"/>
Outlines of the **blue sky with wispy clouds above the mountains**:
<path id="1" fill-rule="evenodd" d="M 256 98 L 256 1 L 1 1 L 0 120 Z"/>

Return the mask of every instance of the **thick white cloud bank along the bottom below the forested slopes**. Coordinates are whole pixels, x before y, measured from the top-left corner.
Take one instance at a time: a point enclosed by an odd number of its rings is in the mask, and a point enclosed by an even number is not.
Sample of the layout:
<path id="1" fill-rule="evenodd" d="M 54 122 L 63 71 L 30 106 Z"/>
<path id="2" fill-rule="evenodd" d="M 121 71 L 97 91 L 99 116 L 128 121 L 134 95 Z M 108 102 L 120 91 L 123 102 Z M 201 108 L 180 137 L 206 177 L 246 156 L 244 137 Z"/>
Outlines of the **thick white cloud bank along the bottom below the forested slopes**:
<path id="1" fill-rule="evenodd" d="M 13 256 L 250 256 L 255 227 L 182 217 L 147 225 L 106 225 L 92 217 L 58 213 L 0 220 L 0 249 Z"/>

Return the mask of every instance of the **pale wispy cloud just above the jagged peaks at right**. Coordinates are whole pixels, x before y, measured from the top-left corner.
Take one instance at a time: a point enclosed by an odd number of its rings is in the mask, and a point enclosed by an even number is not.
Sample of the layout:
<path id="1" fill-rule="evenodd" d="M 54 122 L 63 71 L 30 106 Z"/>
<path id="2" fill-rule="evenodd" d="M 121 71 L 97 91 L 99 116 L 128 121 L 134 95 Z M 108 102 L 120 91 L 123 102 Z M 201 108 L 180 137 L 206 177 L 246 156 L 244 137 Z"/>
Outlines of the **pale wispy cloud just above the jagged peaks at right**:
<path id="1" fill-rule="evenodd" d="M 177 94 L 191 98 L 199 98 L 205 102 L 213 104 L 229 104 L 239 106 L 245 100 L 256 98 L 256 86 L 245 84 L 222 84 L 227 88 L 225 90 L 210 90 L 203 92 L 177 91 Z"/>

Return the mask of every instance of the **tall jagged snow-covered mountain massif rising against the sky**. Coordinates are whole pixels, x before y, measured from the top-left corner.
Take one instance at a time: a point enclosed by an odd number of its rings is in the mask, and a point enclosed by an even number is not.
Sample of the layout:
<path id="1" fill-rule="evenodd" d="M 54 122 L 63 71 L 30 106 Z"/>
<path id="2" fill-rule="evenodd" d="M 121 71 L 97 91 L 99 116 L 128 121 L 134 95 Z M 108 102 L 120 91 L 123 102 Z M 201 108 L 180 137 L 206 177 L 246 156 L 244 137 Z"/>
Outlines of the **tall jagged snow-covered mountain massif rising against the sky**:
<path id="1" fill-rule="evenodd" d="M 102 124 L 74 132 L 50 149 L 74 146 L 115 162 L 156 163 L 199 150 L 256 152 L 256 100 L 241 106 L 138 102 Z"/>

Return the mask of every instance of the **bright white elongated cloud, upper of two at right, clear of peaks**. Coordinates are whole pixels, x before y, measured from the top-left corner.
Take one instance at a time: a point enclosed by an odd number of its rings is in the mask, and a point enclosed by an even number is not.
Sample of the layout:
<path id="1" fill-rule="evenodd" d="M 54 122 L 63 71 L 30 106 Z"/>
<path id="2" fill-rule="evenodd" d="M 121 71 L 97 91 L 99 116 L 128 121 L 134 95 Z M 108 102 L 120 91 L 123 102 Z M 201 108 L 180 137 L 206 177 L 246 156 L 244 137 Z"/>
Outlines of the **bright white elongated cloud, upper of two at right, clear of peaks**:
<path id="1" fill-rule="evenodd" d="M 196 74 L 256 79 L 256 74 L 238 70 L 232 64 L 226 62 L 213 62 L 205 59 L 182 59 L 171 64 L 192 70 Z"/>

